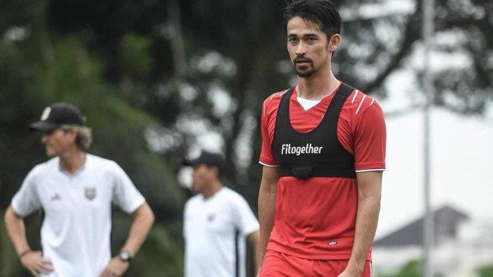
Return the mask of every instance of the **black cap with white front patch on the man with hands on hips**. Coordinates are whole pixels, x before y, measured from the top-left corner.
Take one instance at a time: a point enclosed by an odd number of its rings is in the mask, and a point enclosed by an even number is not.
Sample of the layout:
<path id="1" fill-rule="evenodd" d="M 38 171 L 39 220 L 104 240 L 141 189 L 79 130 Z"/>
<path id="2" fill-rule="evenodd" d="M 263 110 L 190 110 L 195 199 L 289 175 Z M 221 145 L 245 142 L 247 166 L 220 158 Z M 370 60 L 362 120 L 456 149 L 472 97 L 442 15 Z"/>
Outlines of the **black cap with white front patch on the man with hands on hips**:
<path id="1" fill-rule="evenodd" d="M 61 125 L 84 125 L 84 116 L 73 104 L 56 103 L 47 106 L 41 119 L 29 125 L 32 131 L 46 132 L 60 127 Z"/>

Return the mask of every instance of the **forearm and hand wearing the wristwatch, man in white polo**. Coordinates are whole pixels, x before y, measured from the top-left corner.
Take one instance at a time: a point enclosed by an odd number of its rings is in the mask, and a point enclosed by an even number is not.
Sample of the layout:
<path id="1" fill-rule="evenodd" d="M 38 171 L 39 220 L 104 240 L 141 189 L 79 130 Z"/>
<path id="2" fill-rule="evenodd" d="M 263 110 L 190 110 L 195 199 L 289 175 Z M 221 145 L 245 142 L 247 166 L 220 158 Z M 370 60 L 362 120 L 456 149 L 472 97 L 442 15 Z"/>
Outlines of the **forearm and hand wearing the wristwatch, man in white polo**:
<path id="1" fill-rule="evenodd" d="M 132 213 L 132 216 L 134 221 L 132 222 L 132 226 L 130 226 L 130 232 L 122 250 L 129 252 L 132 257 L 135 257 L 135 254 L 139 251 L 149 230 L 151 230 L 154 224 L 154 213 L 151 207 L 149 207 L 149 204 L 144 203 Z M 122 261 L 118 256 L 113 257 L 106 269 L 101 273 L 101 277 L 122 276 L 127 271 L 128 266 L 129 262 Z"/>

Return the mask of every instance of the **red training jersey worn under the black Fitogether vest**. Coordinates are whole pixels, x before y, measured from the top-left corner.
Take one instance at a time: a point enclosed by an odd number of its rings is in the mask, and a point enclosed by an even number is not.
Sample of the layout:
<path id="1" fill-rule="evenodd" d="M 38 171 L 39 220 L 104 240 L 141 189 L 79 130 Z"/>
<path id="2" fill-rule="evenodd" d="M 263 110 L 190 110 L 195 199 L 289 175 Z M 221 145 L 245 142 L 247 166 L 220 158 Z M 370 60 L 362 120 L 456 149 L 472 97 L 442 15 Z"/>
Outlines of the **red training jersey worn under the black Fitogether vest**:
<path id="1" fill-rule="evenodd" d="M 275 120 L 284 92 L 263 102 L 260 163 L 277 166 L 273 152 Z M 335 92 L 308 111 L 289 99 L 289 120 L 294 130 L 308 133 L 322 121 Z M 359 90 L 351 92 L 339 113 L 337 139 L 354 155 L 356 172 L 385 170 L 385 120 L 380 105 Z M 304 259 L 349 259 L 354 242 L 358 184 L 351 178 L 281 177 L 272 233 L 267 249 Z M 371 250 L 368 251 L 371 260 Z"/>

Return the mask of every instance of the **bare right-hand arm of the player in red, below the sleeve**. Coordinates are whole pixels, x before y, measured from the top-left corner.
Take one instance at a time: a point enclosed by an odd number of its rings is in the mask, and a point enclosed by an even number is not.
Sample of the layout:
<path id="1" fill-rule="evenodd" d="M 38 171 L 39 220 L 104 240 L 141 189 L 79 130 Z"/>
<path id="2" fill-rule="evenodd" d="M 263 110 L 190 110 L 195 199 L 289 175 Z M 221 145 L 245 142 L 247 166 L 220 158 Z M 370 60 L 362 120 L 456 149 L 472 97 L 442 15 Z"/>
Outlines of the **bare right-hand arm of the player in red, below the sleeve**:
<path id="1" fill-rule="evenodd" d="M 358 179 L 358 214 L 353 251 L 342 276 L 361 276 L 366 255 L 377 230 L 380 198 L 382 192 L 382 171 L 356 173 Z"/>

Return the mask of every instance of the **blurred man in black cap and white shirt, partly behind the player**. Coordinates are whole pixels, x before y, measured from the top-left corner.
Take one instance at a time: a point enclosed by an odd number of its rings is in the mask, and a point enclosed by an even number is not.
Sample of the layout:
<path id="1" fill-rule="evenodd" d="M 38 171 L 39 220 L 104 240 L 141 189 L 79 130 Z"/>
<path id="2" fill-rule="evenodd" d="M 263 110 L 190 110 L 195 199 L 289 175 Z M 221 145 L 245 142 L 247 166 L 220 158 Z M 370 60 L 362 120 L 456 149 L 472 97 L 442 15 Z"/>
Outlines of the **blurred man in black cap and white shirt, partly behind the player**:
<path id="1" fill-rule="evenodd" d="M 249 204 L 219 180 L 220 154 L 202 152 L 193 166 L 193 190 L 184 211 L 185 277 L 245 277 L 245 238 L 256 253 L 258 221 Z"/>

